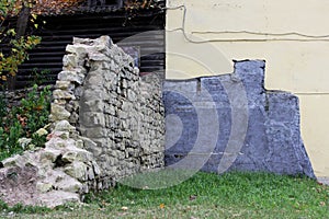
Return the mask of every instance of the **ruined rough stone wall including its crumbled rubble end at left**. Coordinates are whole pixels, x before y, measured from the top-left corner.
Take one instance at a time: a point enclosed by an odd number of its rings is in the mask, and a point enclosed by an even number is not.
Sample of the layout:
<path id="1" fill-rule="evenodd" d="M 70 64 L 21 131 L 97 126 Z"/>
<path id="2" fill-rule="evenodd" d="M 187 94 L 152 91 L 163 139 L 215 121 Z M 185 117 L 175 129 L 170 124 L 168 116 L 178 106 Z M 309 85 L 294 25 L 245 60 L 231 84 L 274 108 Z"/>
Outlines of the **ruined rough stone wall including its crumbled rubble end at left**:
<path id="1" fill-rule="evenodd" d="M 164 165 L 161 80 L 139 77 L 109 36 L 73 38 L 53 92 L 45 148 L 5 159 L 1 199 L 54 207 Z"/>

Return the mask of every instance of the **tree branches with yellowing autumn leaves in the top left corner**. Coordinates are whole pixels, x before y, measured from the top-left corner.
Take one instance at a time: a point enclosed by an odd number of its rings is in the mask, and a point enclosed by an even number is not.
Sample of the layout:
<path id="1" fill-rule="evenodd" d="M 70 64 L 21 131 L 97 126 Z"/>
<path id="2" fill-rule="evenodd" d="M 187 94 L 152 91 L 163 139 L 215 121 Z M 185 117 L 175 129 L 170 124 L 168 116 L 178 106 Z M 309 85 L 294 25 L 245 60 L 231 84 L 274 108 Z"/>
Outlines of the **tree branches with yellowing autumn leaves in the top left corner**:
<path id="1" fill-rule="evenodd" d="M 82 0 L 0 0 L 0 44 L 9 49 L 0 50 L 0 82 L 14 78 L 19 66 L 29 59 L 29 50 L 41 43 L 41 37 L 26 32 L 26 27 L 37 28 L 38 14 L 72 11 Z M 10 20 L 18 18 L 16 24 Z M 13 22 L 14 23 L 14 22 Z M 9 84 L 13 87 L 13 84 Z"/>

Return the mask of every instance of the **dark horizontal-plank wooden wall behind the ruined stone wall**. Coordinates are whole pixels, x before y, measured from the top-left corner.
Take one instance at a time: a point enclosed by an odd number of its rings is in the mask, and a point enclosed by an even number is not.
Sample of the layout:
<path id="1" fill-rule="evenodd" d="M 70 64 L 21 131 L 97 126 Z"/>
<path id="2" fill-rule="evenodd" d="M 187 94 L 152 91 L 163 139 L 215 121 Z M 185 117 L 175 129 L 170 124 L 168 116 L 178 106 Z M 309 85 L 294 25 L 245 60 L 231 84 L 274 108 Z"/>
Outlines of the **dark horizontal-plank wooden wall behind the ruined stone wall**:
<path id="1" fill-rule="evenodd" d="M 110 35 L 114 43 L 118 43 L 126 37 L 146 31 L 163 30 L 164 26 L 164 13 L 152 14 L 147 12 L 132 20 L 126 20 L 126 16 L 127 14 L 124 12 L 112 12 L 44 18 L 46 24 L 36 33 L 42 37 L 42 43 L 30 51 L 30 60 L 20 66 L 16 88 L 23 88 L 24 84 L 31 82 L 33 77 L 30 76 L 35 68 L 39 71 L 48 70 L 47 81 L 54 83 L 57 73 L 63 68 L 61 60 L 65 55 L 65 48 L 68 44 L 71 44 L 73 37 L 97 38 L 101 35 Z M 147 56 L 140 57 L 140 72 L 164 69 L 163 33 L 134 36 L 132 43 L 122 45 L 138 46 L 141 54 L 147 54 Z M 1 49 L 5 49 L 5 47 L 1 47 Z"/>

